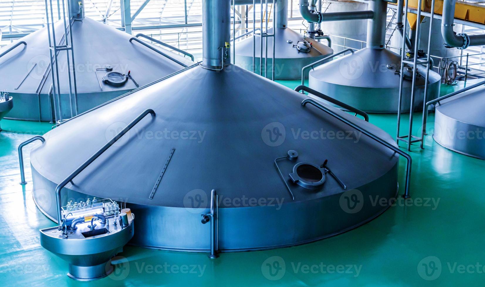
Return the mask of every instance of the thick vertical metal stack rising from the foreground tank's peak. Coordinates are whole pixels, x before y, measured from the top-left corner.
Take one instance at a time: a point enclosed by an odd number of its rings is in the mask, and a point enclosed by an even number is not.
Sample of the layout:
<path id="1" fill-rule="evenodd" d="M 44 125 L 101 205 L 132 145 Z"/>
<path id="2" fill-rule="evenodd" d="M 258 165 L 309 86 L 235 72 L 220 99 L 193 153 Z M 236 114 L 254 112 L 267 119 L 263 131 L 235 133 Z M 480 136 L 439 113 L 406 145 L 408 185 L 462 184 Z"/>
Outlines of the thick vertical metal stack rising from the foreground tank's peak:
<path id="1" fill-rule="evenodd" d="M 230 63 L 230 0 L 202 1 L 202 66 L 222 70 Z"/>

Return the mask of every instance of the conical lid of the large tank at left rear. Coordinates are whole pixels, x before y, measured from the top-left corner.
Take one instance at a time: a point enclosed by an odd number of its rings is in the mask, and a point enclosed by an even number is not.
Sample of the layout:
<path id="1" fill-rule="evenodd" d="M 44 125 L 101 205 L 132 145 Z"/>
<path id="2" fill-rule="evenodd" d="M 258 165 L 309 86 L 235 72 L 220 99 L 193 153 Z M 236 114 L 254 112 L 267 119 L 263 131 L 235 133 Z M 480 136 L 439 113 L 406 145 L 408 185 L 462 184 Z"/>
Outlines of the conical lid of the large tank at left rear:
<path id="1" fill-rule="evenodd" d="M 64 45 L 63 21 L 56 24 L 56 43 Z M 67 34 L 69 36 L 69 34 Z M 51 36 L 52 37 L 52 36 Z M 74 60 L 78 93 L 107 92 L 132 90 L 137 86 L 128 81 L 125 85 L 116 87 L 103 83 L 107 71 L 103 68 L 111 66 L 113 71 L 130 75 L 139 85 L 145 85 L 163 76 L 179 71 L 183 67 L 178 63 L 146 48 L 129 42 L 131 36 L 108 25 L 90 18 L 73 21 L 72 37 L 74 43 Z M 12 93 L 36 94 L 49 91 L 52 78 L 49 73 L 49 37 L 47 27 L 37 30 L 24 38 L 27 45 L 19 45 L 14 50 L 0 58 L 0 90 Z M 15 43 L 14 43 L 15 44 Z M 12 45 L 14 45 L 12 44 Z M 0 52 L 8 49 L 7 45 Z M 157 47 L 162 49 L 161 47 Z M 190 59 L 164 50 L 171 56 L 191 63 Z M 57 57 L 61 93 L 68 93 L 66 52 L 61 51 Z M 72 62 L 70 62 L 72 69 Z M 97 70 L 99 69 L 99 70 Z M 49 70 L 49 71 L 48 71 Z M 45 83 L 44 83 L 45 81 Z"/>

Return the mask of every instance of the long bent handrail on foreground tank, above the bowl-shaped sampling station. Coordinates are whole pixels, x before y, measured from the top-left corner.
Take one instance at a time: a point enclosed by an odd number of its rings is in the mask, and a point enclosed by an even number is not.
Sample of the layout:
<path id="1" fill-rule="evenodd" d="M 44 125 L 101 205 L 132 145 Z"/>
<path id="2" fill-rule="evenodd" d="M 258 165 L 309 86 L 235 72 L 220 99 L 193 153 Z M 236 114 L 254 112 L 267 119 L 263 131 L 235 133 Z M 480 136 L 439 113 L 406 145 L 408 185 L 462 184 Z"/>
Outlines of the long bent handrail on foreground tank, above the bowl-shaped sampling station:
<path id="1" fill-rule="evenodd" d="M 145 118 L 146 115 L 151 114 L 152 117 L 155 117 L 155 111 L 151 108 L 146 109 L 143 113 L 141 113 L 136 119 L 131 121 L 123 130 L 121 130 L 116 136 L 114 136 L 109 142 L 107 142 L 101 149 L 99 149 L 95 154 L 93 154 L 89 159 L 87 159 L 81 166 L 76 168 L 68 177 L 65 178 L 64 181 L 59 183 L 56 187 L 56 209 L 57 209 L 57 220 L 58 223 L 61 224 L 62 219 L 62 212 L 61 212 L 61 190 L 68 182 L 72 182 L 72 180 L 81 173 L 87 166 L 93 163 L 103 152 L 108 150 L 118 139 L 124 136 L 133 126 L 135 126 L 139 121 Z"/>

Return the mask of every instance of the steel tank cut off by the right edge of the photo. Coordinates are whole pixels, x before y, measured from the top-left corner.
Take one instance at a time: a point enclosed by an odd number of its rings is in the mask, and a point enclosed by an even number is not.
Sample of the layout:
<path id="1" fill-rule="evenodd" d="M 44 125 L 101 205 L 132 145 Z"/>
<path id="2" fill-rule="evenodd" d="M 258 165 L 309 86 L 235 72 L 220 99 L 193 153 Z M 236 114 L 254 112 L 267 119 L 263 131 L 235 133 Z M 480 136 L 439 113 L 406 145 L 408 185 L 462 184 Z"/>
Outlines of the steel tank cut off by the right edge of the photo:
<path id="1" fill-rule="evenodd" d="M 433 138 L 443 147 L 485 159 L 485 87 L 440 102 Z"/>

